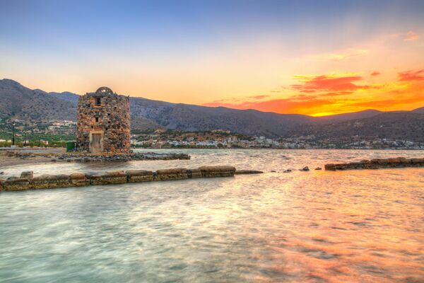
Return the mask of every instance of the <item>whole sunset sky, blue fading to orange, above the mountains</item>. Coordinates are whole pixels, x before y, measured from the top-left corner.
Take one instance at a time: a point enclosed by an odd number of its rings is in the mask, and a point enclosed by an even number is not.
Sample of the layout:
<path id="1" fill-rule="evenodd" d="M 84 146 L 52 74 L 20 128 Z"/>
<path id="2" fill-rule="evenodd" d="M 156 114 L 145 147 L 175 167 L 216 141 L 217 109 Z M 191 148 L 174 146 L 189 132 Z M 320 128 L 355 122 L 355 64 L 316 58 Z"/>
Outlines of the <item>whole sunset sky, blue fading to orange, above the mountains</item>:
<path id="1" fill-rule="evenodd" d="M 201 2 L 10 2 L 0 77 L 313 116 L 424 106 L 423 1 Z"/>

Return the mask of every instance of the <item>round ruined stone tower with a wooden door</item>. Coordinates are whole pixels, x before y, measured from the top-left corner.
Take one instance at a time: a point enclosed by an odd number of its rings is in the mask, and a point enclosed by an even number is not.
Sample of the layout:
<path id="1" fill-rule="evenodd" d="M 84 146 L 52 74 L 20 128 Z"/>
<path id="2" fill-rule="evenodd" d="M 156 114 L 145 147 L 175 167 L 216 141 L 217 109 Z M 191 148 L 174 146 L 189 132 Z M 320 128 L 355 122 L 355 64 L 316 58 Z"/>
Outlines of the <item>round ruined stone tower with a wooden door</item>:
<path id="1" fill-rule="evenodd" d="M 78 151 L 122 153 L 130 147 L 129 97 L 105 86 L 80 96 L 77 110 Z"/>

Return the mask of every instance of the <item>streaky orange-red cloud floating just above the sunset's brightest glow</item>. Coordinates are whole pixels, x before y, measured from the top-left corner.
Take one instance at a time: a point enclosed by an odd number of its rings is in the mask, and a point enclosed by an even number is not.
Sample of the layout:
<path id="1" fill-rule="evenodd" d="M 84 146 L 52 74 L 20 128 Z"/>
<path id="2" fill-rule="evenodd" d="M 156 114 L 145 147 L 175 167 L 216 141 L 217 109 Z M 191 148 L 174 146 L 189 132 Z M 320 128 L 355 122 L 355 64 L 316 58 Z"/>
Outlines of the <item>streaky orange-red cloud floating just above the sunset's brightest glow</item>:
<path id="1" fill-rule="evenodd" d="M 356 91 L 359 88 L 368 88 L 369 86 L 360 86 L 355 84 L 361 81 L 361 76 L 295 76 L 295 79 L 302 82 L 293 84 L 293 90 L 301 93 L 314 93 L 317 91 Z"/>

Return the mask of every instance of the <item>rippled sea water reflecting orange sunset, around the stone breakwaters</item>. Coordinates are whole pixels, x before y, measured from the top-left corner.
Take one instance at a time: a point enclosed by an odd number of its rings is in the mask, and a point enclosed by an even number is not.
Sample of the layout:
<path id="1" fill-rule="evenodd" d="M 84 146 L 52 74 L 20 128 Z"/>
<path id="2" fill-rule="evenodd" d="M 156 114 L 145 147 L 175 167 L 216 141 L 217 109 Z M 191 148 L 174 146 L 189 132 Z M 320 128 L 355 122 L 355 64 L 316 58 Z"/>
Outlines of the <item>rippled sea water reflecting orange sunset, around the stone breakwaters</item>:
<path id="1" fill-rule="evenodd" d="M 313 170 L 424 151 L 181 151 L 192 159 L 2 168 L 265 173 L 3 192 L 0 282 L 424 282 L 424 168 Z"/>

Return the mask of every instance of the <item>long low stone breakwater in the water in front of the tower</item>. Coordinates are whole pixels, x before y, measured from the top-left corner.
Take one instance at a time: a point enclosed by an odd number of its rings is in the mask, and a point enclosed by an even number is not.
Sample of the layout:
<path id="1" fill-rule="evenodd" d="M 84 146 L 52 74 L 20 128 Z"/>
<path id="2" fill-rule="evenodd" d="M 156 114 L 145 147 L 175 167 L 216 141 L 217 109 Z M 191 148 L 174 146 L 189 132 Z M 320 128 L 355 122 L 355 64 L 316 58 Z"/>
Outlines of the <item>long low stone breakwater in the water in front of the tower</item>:
<path id="1" fill-rule="evenodd" d="M 56 187 L 82 187 L 88 185 L 117 185 L 192 178 L 232 177 L 237 171 L 232 166 L 203 166 L 200 168 L 172 168 L 158 171 L 129 170 L 107 173 L 72 173 L 71 175 L 33 176 L 32 171 L 20 177 L 0 179 L 0 191 L 52 189 Z M 257 171 L 252 171 L 257 172 Z M 245 173 L 246 174 L 246 173 Z"/>

